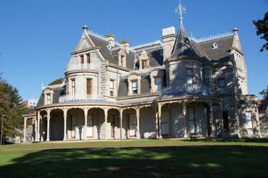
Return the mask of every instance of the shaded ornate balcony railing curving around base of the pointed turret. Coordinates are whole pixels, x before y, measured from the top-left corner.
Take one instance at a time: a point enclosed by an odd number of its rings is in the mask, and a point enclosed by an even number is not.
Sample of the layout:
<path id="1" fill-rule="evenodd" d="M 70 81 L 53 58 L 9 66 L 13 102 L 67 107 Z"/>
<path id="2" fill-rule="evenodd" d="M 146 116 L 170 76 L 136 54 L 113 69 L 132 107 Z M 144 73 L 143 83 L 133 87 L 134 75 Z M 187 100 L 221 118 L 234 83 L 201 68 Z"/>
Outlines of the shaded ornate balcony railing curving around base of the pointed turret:
<path id="1" fill-rule="evenodd" d="M 211 95 L 212 91 L 209 86 L 203 84 L 192 84 L 192 85 L 171 85 L 163 88 L 159 91 L 159 97 L 165 95 L 186 95 L 186 94 L 197 94 L 197 95 Z"/>

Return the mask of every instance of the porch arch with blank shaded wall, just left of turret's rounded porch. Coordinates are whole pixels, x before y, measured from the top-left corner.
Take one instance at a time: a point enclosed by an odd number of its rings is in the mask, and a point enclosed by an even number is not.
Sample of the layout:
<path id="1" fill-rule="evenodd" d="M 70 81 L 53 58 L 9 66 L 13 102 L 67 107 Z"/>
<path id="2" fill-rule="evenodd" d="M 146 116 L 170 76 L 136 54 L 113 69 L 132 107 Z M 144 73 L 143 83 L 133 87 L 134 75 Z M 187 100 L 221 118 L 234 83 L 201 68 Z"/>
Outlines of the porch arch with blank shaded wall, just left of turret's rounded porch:
<path id="1" fill-rule="evenodd" d="M 140 108 L 140 138 L 154 139 L 157 137 L 154 108 Z"/>

